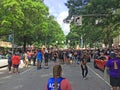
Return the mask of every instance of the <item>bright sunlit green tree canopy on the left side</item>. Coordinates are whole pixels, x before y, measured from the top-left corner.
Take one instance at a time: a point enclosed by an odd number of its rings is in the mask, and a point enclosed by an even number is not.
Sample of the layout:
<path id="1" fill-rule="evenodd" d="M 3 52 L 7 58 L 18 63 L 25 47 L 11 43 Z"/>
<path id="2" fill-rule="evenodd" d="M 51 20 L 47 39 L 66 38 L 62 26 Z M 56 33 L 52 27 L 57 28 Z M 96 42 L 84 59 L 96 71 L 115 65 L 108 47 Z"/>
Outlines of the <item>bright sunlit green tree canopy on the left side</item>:
<path id="1" fill-rule="evenodd" d="M 64 33 L 43 0 L 0 0 L 0 36 L 14 35 L 17 45 L 54 44 Z M 4 37 L 4 38 L 3 38 Z"/>

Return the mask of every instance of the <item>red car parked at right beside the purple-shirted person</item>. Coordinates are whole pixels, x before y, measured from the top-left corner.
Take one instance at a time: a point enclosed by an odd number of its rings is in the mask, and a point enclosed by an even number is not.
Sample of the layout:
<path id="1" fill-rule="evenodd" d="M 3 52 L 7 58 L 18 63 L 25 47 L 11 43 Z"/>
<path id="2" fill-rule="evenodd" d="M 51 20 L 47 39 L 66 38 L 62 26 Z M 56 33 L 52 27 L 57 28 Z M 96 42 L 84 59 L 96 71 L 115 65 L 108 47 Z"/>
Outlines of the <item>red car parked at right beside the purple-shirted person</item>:
<path id="1" fill-rule="evenodd" d="M 109 60 L 109 56 L 102 56 L 96 58 L 94 59 L 94 67 L 104 71 L 105 64 L 108 60 Z"/>

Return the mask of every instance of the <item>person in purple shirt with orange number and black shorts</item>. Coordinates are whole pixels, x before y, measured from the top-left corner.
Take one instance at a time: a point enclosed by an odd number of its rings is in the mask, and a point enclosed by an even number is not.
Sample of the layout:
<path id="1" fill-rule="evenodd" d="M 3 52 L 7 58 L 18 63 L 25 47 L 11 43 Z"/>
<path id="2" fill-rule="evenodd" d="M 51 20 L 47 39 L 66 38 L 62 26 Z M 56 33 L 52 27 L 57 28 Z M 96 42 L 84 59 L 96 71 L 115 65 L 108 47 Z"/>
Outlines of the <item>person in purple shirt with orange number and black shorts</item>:
<path id="1" fill-rule="evenodd" d="M 110 75 L 110 85 L 112 90 L 120 90 L 120 59 L 115 53 L 110 54 L 111 59 L 107 61 L 106 68 Z"/>

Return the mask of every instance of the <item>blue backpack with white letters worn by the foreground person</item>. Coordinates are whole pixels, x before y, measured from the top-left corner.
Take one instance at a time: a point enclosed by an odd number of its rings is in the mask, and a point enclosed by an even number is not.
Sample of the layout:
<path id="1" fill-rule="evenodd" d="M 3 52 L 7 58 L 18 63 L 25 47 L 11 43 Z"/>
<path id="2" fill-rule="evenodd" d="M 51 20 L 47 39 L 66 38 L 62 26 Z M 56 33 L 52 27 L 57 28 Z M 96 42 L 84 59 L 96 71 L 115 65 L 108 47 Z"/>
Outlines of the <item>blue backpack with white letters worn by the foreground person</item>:
<path id="1" fill-rule="evenodd" d="M 48 80 L 48 85 L 47 85 L 47 87 L 48 87 L 48 90 L 61 90 L 60 89 L 60 83 L 61 83 L 61 81 L 63 80 L 64 78 L 62 78 L 62 77 L 59 77 L 59 78 L 50 78 L 49 80 Z M 57 87 L 57 89 L 55 89 L 55 83 L 57 83 L 58 85 L 58 87 Z"/>

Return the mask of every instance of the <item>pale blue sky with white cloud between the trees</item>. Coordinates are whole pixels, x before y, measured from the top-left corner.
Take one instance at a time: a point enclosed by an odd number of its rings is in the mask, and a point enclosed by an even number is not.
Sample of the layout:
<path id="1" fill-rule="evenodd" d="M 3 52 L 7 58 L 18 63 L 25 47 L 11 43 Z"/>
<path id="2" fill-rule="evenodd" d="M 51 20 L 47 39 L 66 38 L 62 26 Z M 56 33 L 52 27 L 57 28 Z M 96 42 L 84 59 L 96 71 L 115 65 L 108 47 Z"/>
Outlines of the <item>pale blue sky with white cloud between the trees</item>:
<path id="1" fill-rule="evenodd" d="M 67 0 L 44 0 L 46 6 L 49 7 L 50 15 L 53 15 L 56 18 L 65 35 L 70 31 L 69 24 L 63 22 L 68 16 L 68 8 L 64 4 L 66 2 Z"/>

